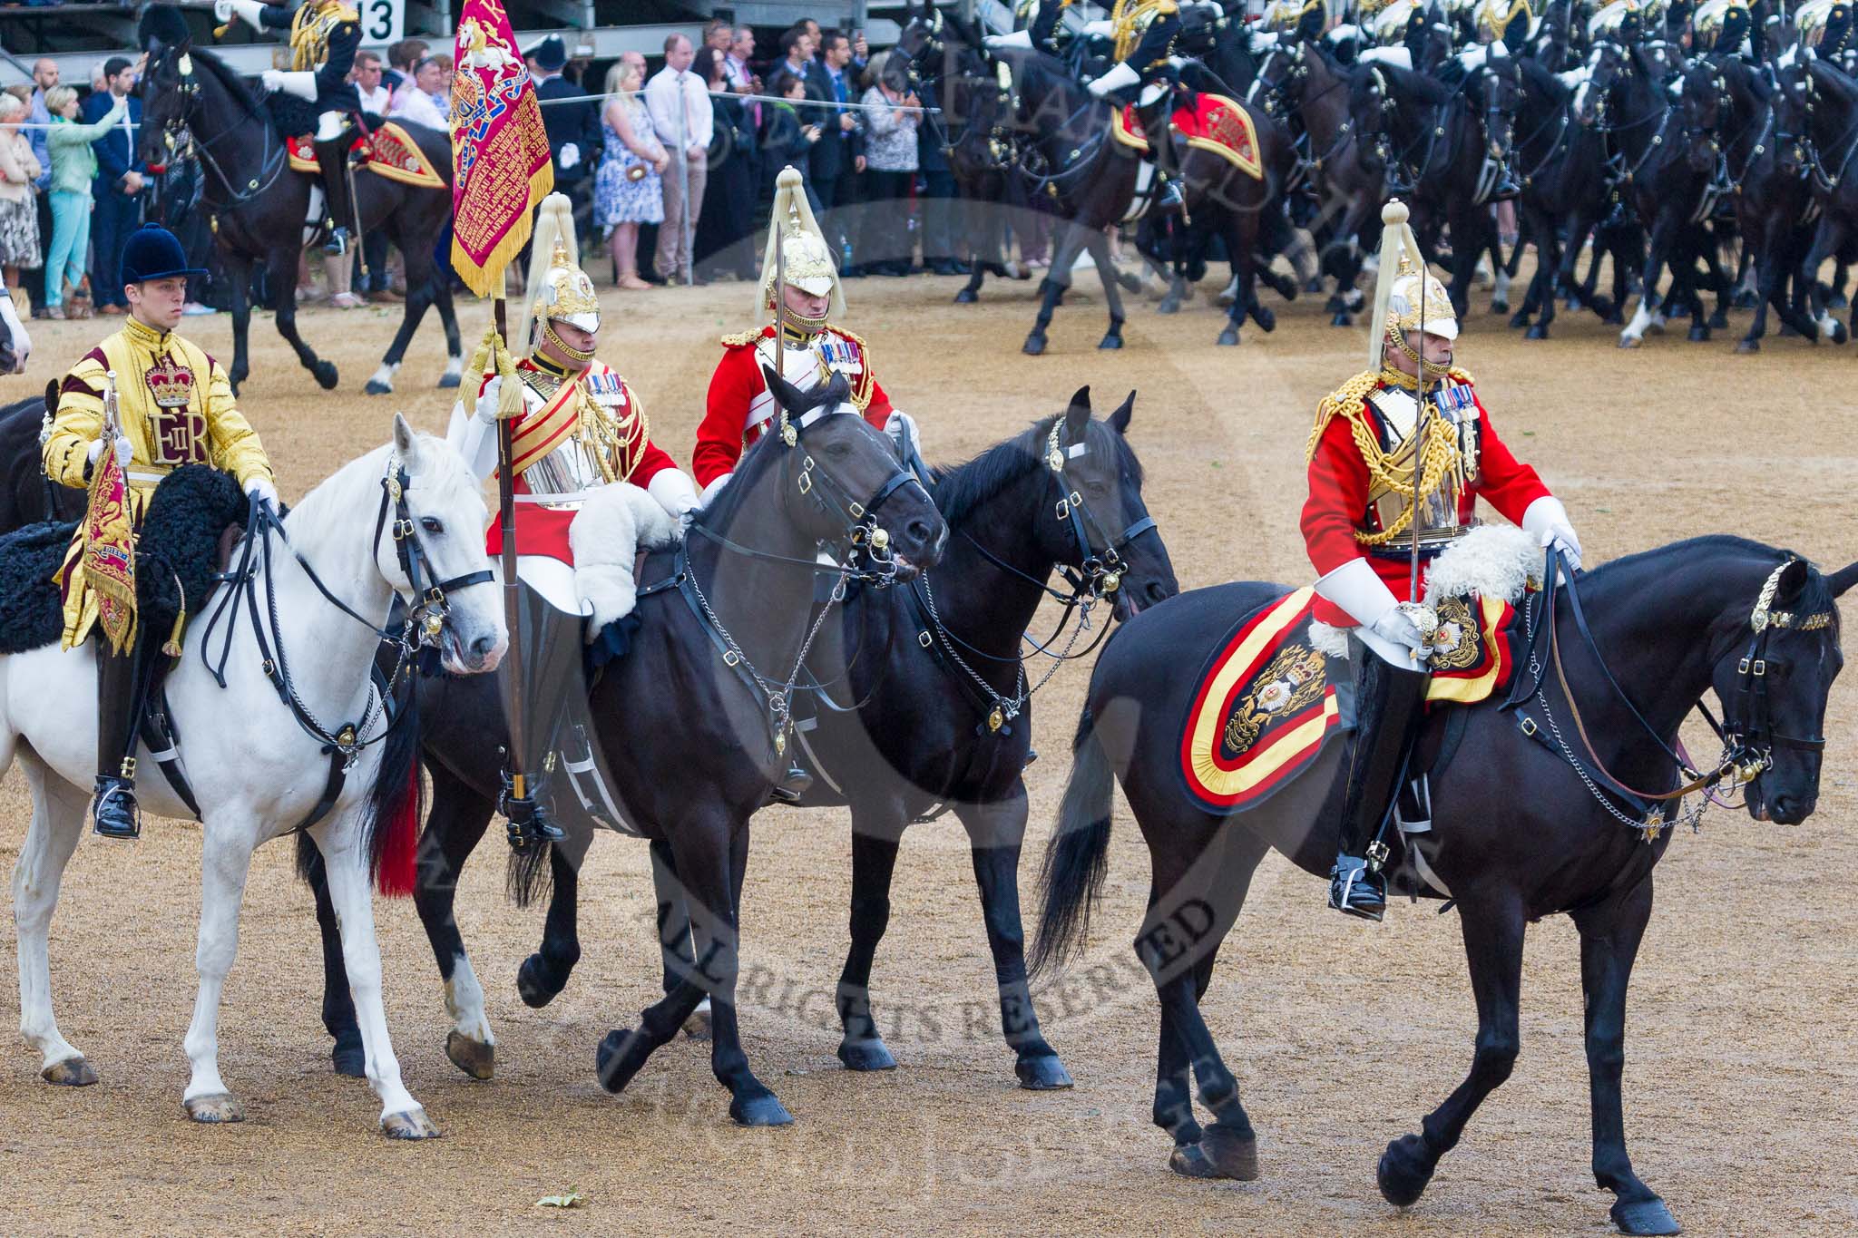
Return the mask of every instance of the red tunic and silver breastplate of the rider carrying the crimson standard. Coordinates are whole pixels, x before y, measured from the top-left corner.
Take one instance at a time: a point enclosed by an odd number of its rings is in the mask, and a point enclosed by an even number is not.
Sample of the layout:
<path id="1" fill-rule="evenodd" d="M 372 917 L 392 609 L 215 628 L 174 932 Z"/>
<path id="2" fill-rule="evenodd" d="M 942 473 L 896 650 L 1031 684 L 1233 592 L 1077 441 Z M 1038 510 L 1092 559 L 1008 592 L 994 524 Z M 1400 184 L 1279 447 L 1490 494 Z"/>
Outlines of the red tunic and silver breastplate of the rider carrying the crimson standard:
<path id="1" fill-rule="evenodd" d="M 517 553 L 572 564 L 569 525 L 580 514 L 587 490 L 615 481 L 647 486 L 676 462 L 652 444 L 645 406 L 606 362 L 595 360 L 576 375 L 524 356 L 517 371 L 526 403 L 511 427 Z M 491 555 L 504 551 L 504 529 L 496 520 L 485 542 Z"/>

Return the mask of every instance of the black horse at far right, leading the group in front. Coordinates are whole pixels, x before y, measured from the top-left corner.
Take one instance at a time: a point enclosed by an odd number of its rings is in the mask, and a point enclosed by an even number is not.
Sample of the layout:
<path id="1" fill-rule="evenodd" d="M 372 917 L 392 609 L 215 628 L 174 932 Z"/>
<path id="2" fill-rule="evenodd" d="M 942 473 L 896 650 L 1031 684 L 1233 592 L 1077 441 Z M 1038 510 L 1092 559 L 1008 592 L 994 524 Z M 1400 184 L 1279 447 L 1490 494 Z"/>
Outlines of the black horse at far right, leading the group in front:
<path id="1" fill-rule="evenodd" d="M 1852 581 L 1858 564 L 1821 575 L 1802 559 L 1730 536 L 1620 559 L 1579 577 L 1579 611 L 1576 598 L 1557 605 L 1555 594 L 1527 605 L 1529 655 L 1516 666 L 1509 703 L 1444 709 L 1427 722 L 1420 752 L 1436 755 L 1446 733 L 1457 731 L 1455 755 L 1431 772 L 1431 832 L 1412 837 L 1427 839 L 1418 869 L 1457 900 L 1477 1045 L 1464 1084 L 1427 1115 L 1421 1134 L 1395 1140 L 1380 1158 L 1390 1203 L 1420 1199 L 1479 1103 L 1509 1077 L 1524 926 L 1566 911 L 1581 934 L 1594 1179 L 1618 1195 L 1613 1219 L 1626 1232 L 1678 1232 L 1633 1173 L 1620 1112 L 1626 987 L 1652 913 L 1652 867 L 1670 843 L 1668 828 L 1646 820 L 1661 813 L 1672 824 L 1674 806 L 1659 796 L 1691 774 L 1674 754 L 1678 728 L 1711 689 L 1728 741 L 1722 765 L 1706 774 L 1730 767 L 1752 774 L 1745 794 L 1756 820 L 1793 824 L 1813 811 L 1826 692 L 1843 663 L 1834 600 Z M 1219 943 L 1267 850 L 1317 876 L 1336 854 L 1336 774 L 1349 744 L 1330 744 L 1301 778 L 1236 817 L 1202 809 L 1178 772 L 1197 672 L 1241 616 L 1282 592 L 1260 583 L 1202 588 L 1117 633 L 1091 676 L 1046 854 L 1035 973 L 1070 952 L 1087 928 L 1120 778 L 1154 861 L 1148 917 L 1135 939 L 1161 1000 L 1154 1121 L 1174 1138 L 1172 1166 L 1195 1177 L 1258 1175 L 1237 1084 L 1198 1010 Z M 1405 846 L 1395 843 L 1395 856 Z M 1395 889 L 1436 896 L 1410 858 L 1394 863 Z M 1310 908 L 1323 913 L 1314 896 Z M 1189 1069 L 1215 1115 L 1204 1132 Z"/>

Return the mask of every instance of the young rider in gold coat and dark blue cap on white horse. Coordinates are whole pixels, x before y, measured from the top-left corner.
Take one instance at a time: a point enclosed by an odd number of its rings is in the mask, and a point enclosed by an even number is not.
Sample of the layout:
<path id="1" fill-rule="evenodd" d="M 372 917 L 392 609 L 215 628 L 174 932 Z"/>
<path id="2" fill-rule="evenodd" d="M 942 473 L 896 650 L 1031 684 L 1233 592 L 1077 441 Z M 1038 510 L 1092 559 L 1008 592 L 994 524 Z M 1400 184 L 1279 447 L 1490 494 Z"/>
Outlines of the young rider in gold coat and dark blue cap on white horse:
<path id="1" fill-rule="evenodd" d="M 58 390 L 58 410 L 45 440 L 45 475 L 58 484 L 85 488 L 104 451 L 113 451 L 128 481 L 130 522 L 141 531 L 156 484 L 182 464 L 210 464 L 232 473 L 260 503 L 277 503 L 277 483 L 264 444 L 238 410 L 227 371 L 197 345 L 175 334 L 188 304 L 188 267 L 175 234 L 143 225 L 123 247 L 123 291 L 128 317 L 123 329 L 85 353 Z M 98 290 L 102 291 L 102 290 Z M 119 436 L 104 442 L 104 393 L 115 371 Z M 59 572 L 65 596 L 65 648 L 97 627 L 98 600 L 78 572 L 84 525 Z M 143 653 L 145 633 L 121 653 L 97 638 L 97 793 L 91 820 L 97 833 L 134 839 L 136 729 L 156 659 Z"/>

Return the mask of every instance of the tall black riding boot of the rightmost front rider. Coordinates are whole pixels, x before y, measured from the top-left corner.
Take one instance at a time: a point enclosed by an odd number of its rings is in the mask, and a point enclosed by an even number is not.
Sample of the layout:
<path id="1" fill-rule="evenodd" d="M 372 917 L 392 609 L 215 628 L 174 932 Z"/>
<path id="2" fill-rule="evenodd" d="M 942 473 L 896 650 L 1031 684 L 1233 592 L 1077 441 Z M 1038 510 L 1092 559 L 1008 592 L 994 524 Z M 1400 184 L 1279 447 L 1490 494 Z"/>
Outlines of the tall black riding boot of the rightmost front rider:
<path id="1" fill-rule="evenodd" d="M 1388 893 L 1380 870 L 1386 859 L 1380 824 L 1399 791 L 1431 676 L 1394 666 L 1360 640 L 1349 640 L 1349 657 L 1354 659 L 1354 752 L 1341 802 L 1341 850 L 1328 874 L 1328 906 L 1379 921 Z"/>

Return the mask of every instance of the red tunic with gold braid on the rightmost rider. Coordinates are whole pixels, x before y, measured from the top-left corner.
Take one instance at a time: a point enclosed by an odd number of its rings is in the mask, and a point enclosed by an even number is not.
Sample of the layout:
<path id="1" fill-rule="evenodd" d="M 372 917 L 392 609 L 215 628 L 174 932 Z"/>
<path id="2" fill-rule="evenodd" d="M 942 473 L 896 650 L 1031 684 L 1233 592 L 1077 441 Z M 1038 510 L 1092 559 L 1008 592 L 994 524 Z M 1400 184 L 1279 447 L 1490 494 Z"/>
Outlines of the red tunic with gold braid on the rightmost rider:
<path id="1" fill-rule="evenodd" d="M 1548 486 L 1498 438 L 1468 373 L 1453 369 L 1442 392 L 1444 412 L 1434 432 L 1449 438 L 1457 457 L 1446 479 L 1446 486 L 1457 490 L 1455 510 L 1451 499 L 1446 499 L 1449 516 L 1459 527 L 1470 525 L 1477 499 L 1483 497 L 1505 520 L 1522 523 L 1524 510 L 1546 497 Z M 1405 496 L 1392 496 L 1394 501 L 1388 503 L 1384 481 L 1388 466 L 1410 468 L 1407 438 L 1414 427 L 1410 421 L 1395 425 L 1388 412 L 1410 406 L 1416 401 L 1408 392 L 1371 371 L 1328 395 L 1310 434 L 1310 497 L 1302 505 L 1302 536 L 1319 575 L 1328 575 L 1351 559 L 1367 559 L 1375 575 L 1401 601 L 1414 601 L 1410 527 L 1397 516 L 1407 507 Z M 1369 444 L 1366 455 L 1362 438 Z M 1369 455 L 1377 457 L 1380 477 L 1369 466 Z M 1410 486 L 1410 479 L 1405 484 Z M 1394 527 L 1399 531 L 1388 536 Z M 1354 625 L 1341 607 L 1323 598 L 1315 600 L 1315 618 L 1336 627 Z"/>

